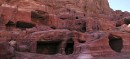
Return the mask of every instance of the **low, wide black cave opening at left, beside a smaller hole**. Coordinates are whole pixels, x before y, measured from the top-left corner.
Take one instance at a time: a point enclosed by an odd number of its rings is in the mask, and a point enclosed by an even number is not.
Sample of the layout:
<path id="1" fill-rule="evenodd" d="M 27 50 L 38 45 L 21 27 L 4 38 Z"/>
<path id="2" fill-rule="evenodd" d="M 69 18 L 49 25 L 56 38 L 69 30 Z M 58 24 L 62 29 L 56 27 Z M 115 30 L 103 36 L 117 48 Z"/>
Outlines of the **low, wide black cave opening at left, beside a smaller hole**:
<path id="1" fill-rule="evenodd" d="M 35 27 L 35 24 L 17 21 L 16 22 L 16 28 L 33 28 Z"/>

